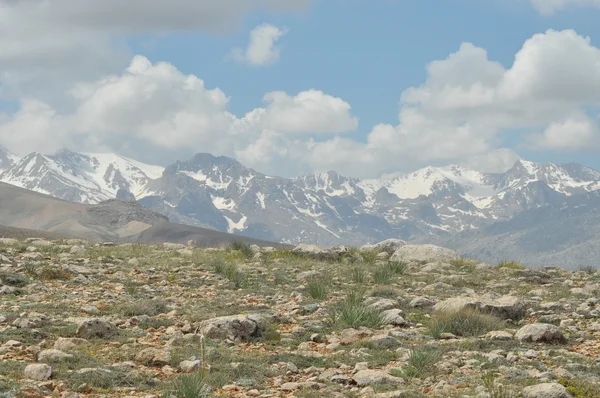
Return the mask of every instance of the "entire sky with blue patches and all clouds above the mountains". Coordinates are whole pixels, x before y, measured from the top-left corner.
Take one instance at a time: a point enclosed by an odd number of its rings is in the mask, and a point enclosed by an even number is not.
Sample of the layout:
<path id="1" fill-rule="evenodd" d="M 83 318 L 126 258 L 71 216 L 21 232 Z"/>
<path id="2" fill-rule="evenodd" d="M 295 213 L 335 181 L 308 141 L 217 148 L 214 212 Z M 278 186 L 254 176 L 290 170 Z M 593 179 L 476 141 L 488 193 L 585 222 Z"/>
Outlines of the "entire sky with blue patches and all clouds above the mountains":
<path id="1" fill-rule="evenodd" d="M 598 20 L 600 0 L 0 0 L 0 143 L 280 176 L 600 169 Z"/>

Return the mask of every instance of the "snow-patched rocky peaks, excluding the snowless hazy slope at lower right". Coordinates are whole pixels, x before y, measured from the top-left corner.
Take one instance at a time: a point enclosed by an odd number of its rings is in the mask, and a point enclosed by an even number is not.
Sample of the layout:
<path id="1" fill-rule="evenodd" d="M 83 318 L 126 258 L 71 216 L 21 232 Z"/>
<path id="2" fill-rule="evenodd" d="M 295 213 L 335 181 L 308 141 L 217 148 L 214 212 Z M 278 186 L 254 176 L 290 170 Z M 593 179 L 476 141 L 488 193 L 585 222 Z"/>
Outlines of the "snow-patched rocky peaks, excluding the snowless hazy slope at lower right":
<path id="1" fill-rule="evenodd" d="M 441 238 L 600 190 L 596 170 L 525 160 L 496 174 L 451 165 L 380 179 L 335 171 L 286 179 L 207 153 L 163 168 L 69 150 L 17 159 L 0 180 L 73 202 L 135 198 L 174 222 L 325 245 Z"/>

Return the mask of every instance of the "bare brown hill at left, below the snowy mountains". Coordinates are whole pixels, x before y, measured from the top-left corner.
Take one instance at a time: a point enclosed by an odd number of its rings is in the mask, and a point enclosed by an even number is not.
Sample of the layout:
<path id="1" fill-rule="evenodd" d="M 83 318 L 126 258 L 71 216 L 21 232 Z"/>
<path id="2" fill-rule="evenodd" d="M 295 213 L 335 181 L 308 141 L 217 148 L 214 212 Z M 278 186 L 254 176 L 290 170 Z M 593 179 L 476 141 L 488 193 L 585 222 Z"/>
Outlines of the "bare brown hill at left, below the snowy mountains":
<path id="1" fill-rule="evenodd" d="M 202 247 L 226 245 L 236 240 L 265 243 L 171 223 L 162 214 L 117 199 L 84 205 L 0 183 L 0 203 L 0 232 L 6 235 L 10 235 L 12 227 L 93 241 L 157 243 L 193 240 Z M 14 232 L 16 236 L 22 235 L 18 230 Z"/>

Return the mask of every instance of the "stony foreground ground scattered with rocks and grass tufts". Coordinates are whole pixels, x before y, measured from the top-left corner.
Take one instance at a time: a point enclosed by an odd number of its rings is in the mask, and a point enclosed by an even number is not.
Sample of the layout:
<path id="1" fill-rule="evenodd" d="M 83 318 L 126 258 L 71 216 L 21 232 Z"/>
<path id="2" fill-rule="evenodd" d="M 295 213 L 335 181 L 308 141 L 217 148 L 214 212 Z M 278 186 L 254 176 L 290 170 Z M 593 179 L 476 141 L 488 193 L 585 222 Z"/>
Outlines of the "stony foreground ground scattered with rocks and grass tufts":
<path id="1" fill-rule="evenodd" d="M 0 239 L 0 397 L 600 397 L 600 273 Z"/>

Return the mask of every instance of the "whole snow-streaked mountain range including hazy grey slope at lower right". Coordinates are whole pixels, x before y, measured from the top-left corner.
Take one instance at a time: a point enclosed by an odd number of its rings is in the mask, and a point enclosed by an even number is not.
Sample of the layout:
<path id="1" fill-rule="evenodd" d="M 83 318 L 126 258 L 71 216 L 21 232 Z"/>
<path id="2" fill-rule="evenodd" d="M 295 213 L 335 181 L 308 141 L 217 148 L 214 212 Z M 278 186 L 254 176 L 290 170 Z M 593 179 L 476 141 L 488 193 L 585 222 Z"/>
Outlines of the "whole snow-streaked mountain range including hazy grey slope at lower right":
<path id="1" fill-rule="evenodd" d="M 170 221 L 286 244 L 387 238 L 444 245 L 483 261 L 576 266 L 600 259 L 600 172 L 517 161 L 505 173 L 426 167 L 384 179 L 334 171 L 261 174 L 200 153 L 167 167 L 111 153 L 16 157 L 0 181 L 70 202 L 136 200 Z"/>

